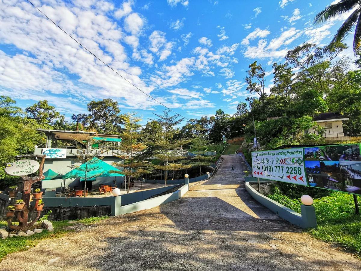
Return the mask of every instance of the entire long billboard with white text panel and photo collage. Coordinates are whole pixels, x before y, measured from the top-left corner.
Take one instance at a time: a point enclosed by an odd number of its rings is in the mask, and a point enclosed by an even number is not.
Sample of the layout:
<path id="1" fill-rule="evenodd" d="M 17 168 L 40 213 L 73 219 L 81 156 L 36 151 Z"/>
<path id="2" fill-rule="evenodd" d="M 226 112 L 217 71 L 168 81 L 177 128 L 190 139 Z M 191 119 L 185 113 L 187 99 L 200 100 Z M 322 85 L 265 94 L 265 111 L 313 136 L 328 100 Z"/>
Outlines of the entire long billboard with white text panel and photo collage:
<path id="1" fill-rule="evenodd" d="M 360 144 L 252 152 L 252 169 L 253 177 L 361 195 Z"/>

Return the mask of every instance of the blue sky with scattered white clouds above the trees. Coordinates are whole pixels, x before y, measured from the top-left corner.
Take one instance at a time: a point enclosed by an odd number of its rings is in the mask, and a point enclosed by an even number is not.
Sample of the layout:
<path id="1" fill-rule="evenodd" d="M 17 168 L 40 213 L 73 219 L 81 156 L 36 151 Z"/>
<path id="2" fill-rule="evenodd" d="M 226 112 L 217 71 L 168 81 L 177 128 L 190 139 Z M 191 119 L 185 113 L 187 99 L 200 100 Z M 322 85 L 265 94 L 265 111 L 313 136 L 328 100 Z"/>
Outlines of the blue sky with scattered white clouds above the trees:
<path id="1" fill-rule="evenodd" d="M 337 2 L 333 1 L 333 2 Z M 345 16 L 313 25 L 331 0 L 34 0 L 45 14 L 129 81 L 187 118 L 229 114 L 245 100 L 253 61 L 297 45 L 326 45 Z M 66 118 L 112 98 L 144 119 L 163 107 L 114 74 L 29 3 L 0 0 L 0 93 L 26 108 L 47 99 Z M 348 45 L 351 45 L 351 37 Z M 342 57 L 353 57 L 351 48 Z"/>

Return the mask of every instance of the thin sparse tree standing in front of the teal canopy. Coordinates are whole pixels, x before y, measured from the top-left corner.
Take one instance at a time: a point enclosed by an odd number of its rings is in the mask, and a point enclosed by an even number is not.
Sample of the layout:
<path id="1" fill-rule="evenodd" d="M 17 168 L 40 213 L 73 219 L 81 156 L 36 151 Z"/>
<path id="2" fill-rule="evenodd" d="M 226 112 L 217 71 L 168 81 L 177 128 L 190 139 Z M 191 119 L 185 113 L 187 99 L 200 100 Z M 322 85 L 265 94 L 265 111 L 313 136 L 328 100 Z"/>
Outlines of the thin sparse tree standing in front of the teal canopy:
<path id="1" fill-rule="evenodd" d="M 84 179 L 84 198 L 85 198 L 87 180 L 95 177 L 99 177 L 104 173 L 104 171 L 100 171 L 100 169 L 102 168 L 100 165 L 101 159 L 103 159 L 104 156 L 101 156 L 101 151 L 99 150 L 84 148 L 83 140 L 79 140 L 77 138 L 74 139 L 78 141 L 77 143 L 75 143 L 75 146 L 77 147 L 78 151 L 73 152 L 73 155 L 75 155 L 75 158 L 73 160 L 75 161 L 75 163 L 80 163 L 80 165 L 68 165 L 68 167 L 70 167 L 71 169 L 76 169 L 76 170 L 66 173 L 64 175 L 64 178 Z M 91 146 L 98 142 L 99 141 L 94 140 L 93 137 L 87 138 L 88 146 Z"/>

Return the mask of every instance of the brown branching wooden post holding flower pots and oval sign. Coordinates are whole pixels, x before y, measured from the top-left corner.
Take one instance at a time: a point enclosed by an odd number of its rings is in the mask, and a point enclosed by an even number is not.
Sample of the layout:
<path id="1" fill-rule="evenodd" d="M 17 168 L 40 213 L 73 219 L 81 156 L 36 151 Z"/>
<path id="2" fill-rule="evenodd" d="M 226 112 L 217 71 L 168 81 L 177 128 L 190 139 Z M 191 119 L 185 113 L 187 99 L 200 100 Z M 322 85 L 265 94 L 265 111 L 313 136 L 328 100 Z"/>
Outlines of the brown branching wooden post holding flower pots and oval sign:
<path id="1" fill-rule="evenodd" d="M 44 166 L 44 162 L 45 162 L 45 157 L 46 155 L 21 155 L 18 156 L 21 158 L 41 158 L 41 162 L 40 162 L 40 167 L 39 167 L 39 175 L 35 176 L 35 177 L 29 177 L 29 176 L 21 176 L 21 178 L 24 181 L 24 188 L 23 188 L 23 194 L 22 194 L 22 200 L 25 202 L 25 206 L 24 208 L 22 208 L 21 210 L 15 210 L 15 214 L 14 216 L 10 216 L 8 218 L 8 226 L 10 229 L 14 229 L 17 231 L 25 231 L 26 229 L 28 229 L 29 227 L 31 227 L 36 221 L 38 221 L 39 217 L 40 217 L 40 213 L 43 211 L 35 211 L 36 214 L 36 218 L 34 218 L 32 221 L 29 222 L 29 212 L 32 212 L 35 210 L 36 206 L 38 206 L 38 203 L 40 201 L 41 198 L 37 198 L 34 199 L 35 204 L 33 207 L 30 206 L 30 189 L 31 189 L 31 185 L 34 184 L 35 182 L 41 181 L 43 180 L 45 177 L 43 175 L 43 166 Z M 13 225 L 12 219 L 16 217 L 17 220 L 19 220 L 19 225 Z"/>

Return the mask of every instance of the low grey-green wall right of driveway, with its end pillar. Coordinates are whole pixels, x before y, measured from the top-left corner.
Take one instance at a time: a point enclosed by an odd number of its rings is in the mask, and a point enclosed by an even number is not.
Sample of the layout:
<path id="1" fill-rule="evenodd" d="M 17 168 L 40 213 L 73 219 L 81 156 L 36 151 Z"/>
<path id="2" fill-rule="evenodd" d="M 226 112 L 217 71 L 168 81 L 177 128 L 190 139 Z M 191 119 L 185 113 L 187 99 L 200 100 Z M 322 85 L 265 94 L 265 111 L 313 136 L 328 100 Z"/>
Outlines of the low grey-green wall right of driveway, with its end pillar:
<path id="1" fill-rule="evenodd" d="M 251 185 L 249 185 L 249 182 L 245 183 L 245 188 L 256 201 L 275 212 L 284 220 L 301 228 L 316 228 L 316 213 L 313 206 L 301 205 L 301 215 L 273 199 L 258 193 Z"/>

